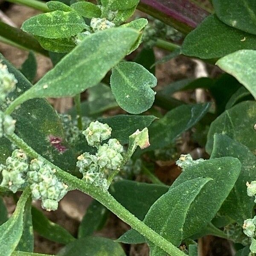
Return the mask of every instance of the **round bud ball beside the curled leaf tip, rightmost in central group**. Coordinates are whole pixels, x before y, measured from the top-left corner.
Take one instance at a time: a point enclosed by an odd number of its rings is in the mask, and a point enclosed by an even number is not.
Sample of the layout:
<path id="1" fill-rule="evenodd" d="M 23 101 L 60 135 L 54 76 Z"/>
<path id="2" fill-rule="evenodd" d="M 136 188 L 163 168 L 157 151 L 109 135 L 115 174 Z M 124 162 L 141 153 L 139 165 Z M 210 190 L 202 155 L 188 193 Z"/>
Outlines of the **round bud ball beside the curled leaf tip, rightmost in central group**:
<path id="1" fill-rule="evenodd" d="M 122 165 L 122 155 L 108 144 L 101 145 L 96 156 L 101 168 L 118 170 Z"/>

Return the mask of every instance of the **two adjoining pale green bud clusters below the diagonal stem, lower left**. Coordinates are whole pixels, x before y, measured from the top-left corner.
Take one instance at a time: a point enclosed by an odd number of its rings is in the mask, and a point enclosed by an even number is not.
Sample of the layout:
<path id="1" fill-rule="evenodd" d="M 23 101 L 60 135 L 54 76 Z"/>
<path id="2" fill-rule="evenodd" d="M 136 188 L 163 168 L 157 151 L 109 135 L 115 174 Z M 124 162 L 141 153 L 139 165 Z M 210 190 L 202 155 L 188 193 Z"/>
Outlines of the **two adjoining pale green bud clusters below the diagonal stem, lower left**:
<path id="1" fill-rule="evenodd" d="M 15 149 L 0 166 L 3 180 L 0 186 L 17 192 L 29 186 L 34 200 L 41 200 L 47 211 L 58 209 L 58 202 L 67 194 L 67 185 L 54 175 L 55 170 L 43 161 L 33 159 L 30 163 L 20 149 Z"/>

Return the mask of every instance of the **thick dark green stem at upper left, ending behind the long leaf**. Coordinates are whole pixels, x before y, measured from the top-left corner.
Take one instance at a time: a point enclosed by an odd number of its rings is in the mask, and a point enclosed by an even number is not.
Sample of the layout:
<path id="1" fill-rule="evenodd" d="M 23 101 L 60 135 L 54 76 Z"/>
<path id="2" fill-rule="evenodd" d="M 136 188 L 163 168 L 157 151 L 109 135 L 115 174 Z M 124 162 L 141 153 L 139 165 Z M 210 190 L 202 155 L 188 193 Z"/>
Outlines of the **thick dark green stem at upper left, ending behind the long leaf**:
<path id="1" fill-rule="evenodd" d="M 42 55 L 49 56 L 48 52 L 41 47 L 38 41 L 31 35 L 21 31 L 20 29 L 9 26 L 0 21 L 0 37 L 4 43 L 12 46 L 19 45 L 19 48 L 33 50 Z"/>

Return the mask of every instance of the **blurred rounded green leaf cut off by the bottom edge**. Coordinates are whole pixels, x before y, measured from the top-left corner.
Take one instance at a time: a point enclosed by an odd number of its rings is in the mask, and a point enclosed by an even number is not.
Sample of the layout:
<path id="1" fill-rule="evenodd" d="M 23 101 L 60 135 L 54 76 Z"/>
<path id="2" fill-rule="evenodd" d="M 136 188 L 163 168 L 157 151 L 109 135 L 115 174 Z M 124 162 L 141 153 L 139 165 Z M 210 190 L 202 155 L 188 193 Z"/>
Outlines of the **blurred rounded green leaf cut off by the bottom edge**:
<path id="1" fill-rule="evenodd" d="M 84 237 L 68 244 L 60 256 L 125 256 L 120 244 L 103 237 Z"/>

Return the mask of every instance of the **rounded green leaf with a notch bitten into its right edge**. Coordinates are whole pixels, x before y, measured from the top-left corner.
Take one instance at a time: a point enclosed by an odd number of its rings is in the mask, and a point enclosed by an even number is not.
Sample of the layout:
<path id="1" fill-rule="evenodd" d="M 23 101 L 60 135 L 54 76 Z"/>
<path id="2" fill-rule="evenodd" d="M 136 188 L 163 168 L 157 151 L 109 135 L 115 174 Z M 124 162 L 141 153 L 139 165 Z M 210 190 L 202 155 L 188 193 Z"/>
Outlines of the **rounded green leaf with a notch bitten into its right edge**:
<path id="1" fill-rule="evenodd" d="M 135 62 L 120 62 L 113 68 L 111 89 L 119 106 L 132 114 L 143 113 L 154 103 L 157 79 Z"/>

